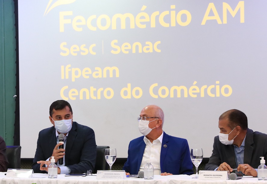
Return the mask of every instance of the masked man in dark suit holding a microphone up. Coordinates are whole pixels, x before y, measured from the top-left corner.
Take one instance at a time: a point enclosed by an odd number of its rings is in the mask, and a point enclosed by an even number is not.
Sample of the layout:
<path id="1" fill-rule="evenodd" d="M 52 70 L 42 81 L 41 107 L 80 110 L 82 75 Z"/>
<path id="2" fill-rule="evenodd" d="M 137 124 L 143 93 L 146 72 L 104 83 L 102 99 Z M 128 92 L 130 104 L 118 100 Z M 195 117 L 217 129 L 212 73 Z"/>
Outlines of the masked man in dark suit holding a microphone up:
<path id="1" fill-rule="evenodd" d="M 33 171 L 47 173 L 51 156 L 54 156 L 56 164 L 63 158 L 63 164 L 57 164 L 58 174 L 93 171 L 97 147 L 94 130 L 73 121 L 72 108 L 65 100 L 53 102 L 49 114 L 53 126 L 39 132 Z M 64 149 L 58 149 L 62 145 L 58 138 L 60 133 L 65 135 Z"/>

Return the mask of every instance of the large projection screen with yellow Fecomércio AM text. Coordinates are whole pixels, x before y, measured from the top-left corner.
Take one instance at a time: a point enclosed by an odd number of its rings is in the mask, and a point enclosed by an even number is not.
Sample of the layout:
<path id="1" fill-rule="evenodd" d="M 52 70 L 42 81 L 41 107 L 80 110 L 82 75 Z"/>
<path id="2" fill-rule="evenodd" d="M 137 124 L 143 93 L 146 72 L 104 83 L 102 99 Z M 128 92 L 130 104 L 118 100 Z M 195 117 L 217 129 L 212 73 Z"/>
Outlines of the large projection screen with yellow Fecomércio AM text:
<path id="1" fill-rule="evenodd" d="M 21 158 L 34 158 L 49 106 L 67 100 L 99 146 L 127 157 L 148 104 L 163 130 L 212 153 L 229 109 L 267 133 L 266 1 L 18 1 Z"/>

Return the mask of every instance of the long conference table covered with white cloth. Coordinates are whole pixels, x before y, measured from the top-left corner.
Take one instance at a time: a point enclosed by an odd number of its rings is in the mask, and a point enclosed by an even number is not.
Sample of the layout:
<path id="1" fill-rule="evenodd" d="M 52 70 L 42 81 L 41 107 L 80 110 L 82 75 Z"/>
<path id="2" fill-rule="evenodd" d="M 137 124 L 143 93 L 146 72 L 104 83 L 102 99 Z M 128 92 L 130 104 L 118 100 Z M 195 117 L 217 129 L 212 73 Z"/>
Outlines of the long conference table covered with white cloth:
<path id="1" fill-rule="evenodd" d="M 96 179 L 96 176 L 84 177 L 66 177 L 65 174 L 59 174 L 57 179 L 48 178 L 47 174 L 35 174 L 35 178 L 10 178 L 5 176 L 5 172 L 0 172 L 0 184 L 204 184 L 204 183 L 267 183 L 267 181 L 258 181 L 258 178 L 244 176 L 238 180 L 200 180 L 192 179 L 193 175 L 155 175 L 152 180 L 143 178 L 127 179 Z"/>

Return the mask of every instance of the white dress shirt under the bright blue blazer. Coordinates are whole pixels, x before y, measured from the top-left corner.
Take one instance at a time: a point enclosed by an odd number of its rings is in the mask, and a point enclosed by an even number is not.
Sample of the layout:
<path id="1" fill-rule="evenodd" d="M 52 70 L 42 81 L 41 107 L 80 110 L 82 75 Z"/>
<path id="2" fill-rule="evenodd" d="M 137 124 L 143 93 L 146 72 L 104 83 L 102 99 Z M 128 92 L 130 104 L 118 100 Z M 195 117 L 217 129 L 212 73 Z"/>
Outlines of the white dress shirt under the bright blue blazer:
<path id="1" fill-rule="evenodd" d="M 144 167 L 146 165 L 146 160 L 150 159 L 151 164 L 154 167 L 154 174 L 155 175 L 160 175 L 161 170 L 160 170 L 160 152 L 161 152 L 161 143 L 162 143 L 162 138 L 163 138 L 163 131 L 161 136 L 158 137 L 158 139 L 154 140 L 153 143 L 150 142 L 144 137 L 144 142 L 146 143 L 145 151 L 143 154 L 142 162 L 140 165 L 139 171 L 144 171 Z"/>

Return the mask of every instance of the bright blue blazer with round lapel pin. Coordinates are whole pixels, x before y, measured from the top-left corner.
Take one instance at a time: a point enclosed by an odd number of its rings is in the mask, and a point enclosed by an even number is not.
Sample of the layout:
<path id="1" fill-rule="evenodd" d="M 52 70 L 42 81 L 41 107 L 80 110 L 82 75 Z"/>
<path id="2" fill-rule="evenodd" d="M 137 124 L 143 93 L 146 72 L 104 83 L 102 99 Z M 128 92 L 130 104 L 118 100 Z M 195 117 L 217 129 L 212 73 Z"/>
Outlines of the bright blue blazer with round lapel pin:
<path id="1" fill-rule="evenodd" d="M 132 140 L 128 148 L 128 158 L 123 170 L 130 174 L 138 174 L 146 143 L 144 136 Z M 166 145 L 164 147 L 164 145 Z M 163 133 L 160 153 L 161 173 L 193 174 L 189 146 L 186 139 L 169 136 Z"/>

